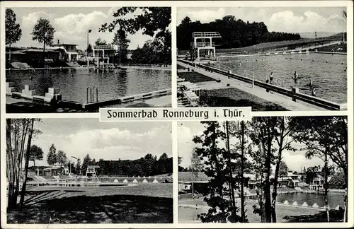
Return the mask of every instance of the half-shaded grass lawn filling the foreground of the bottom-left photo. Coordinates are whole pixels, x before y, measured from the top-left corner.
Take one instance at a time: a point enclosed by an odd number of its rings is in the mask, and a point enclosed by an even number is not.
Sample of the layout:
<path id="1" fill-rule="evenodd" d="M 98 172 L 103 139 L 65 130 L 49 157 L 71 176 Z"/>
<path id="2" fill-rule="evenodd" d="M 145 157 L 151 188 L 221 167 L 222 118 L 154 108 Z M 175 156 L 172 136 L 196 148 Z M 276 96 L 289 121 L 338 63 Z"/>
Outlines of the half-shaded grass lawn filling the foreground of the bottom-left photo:
<path id="1" fill-rule="evenodd" d="M 173 223 L 172 184 L 35 187 L 8 223 Z"/>

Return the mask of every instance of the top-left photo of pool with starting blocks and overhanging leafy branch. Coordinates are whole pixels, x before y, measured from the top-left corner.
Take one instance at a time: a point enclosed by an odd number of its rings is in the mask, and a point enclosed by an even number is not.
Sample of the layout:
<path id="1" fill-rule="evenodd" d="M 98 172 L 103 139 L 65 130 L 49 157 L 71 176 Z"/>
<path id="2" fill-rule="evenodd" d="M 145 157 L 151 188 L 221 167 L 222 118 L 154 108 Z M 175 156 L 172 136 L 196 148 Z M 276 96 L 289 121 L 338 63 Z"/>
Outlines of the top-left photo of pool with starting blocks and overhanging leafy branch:
<path id="1" fill-rule="evenodd" d="M 171 7 L 6 8 L 6 112 L 171 107 Z"/>

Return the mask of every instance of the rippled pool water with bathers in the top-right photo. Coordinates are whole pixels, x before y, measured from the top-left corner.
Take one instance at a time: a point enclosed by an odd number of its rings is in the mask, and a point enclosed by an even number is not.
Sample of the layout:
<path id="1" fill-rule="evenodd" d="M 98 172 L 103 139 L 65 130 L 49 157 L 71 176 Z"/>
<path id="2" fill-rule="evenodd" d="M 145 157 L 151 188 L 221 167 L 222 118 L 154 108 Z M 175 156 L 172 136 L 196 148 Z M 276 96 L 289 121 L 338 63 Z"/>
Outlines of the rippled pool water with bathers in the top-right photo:
<path id="1" fill-rule="evenodd" d="M 213 66 L 232 70 L 232 73 L 263 81 L 273 71 L 273 84 L 285 88 L 299 88 L 312 95 L 309 79 L 316 88 L 316 96 L 332 102 L 347 102 L 347 56 L 340 54 L 284 54 L 252 57 L 220 58 Z M 253 62 L 253 63 L 252 63 Z M 343 64 L 342 64 L 343 63 Z M 252 67 L 253 65 L 253 67 Z M 299 76 L 293 80 L 295 71 Z"/>

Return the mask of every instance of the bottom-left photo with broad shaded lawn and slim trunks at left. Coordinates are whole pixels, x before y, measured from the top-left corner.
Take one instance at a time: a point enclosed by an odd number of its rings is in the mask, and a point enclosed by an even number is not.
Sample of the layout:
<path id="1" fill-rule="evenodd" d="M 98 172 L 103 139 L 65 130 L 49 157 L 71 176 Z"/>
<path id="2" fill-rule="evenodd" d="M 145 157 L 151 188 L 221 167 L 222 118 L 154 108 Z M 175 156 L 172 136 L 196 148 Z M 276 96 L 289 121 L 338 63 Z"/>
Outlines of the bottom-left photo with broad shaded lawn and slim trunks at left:
<path id="1" fill-rule="evenodd" d="M 173 223 L 171 144 L 171 122 L 6 119 L 6 223 Z"/>

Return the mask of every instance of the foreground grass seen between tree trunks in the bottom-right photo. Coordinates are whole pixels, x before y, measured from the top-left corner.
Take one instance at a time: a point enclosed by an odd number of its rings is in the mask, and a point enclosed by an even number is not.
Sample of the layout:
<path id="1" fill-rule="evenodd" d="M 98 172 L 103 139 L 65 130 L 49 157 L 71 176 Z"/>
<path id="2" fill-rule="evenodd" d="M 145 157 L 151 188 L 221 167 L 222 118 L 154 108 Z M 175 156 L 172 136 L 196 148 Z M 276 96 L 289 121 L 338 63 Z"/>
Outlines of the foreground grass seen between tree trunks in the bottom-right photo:
<path id="1" fill-rule="evenodd" d="M 190 206 L 178 206 L 178 221 L 200 221 L 198 214 L 207 213 L 208 206 L 202 199 L 182 199 L 178 204 L 188 204 Z M 261 223 L 261 217 L 253 213 L 252 206 L 256 201 L 246 200 L 246 216 L 249 223 Z M 305 209 L 293 206 L 276 206 L 277 222 L 278 223 L 297 223 L 297 222 L 326 222 L 326 211 L 319 209 Z M 343 221 L 343 213 L 339 211 L 330 212 L 331 221 Z"/>

